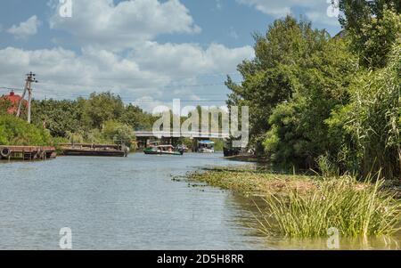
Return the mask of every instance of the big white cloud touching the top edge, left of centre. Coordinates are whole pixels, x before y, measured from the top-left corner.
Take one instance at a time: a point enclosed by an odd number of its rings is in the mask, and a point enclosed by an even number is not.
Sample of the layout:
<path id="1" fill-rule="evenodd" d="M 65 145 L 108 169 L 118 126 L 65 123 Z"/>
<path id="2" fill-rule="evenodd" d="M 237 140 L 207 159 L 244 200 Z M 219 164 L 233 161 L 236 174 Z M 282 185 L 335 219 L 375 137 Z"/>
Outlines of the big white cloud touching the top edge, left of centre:
<path id="1" fill-rule="evenodd" d="M 114 50 L 132 48 L 162 34 L 201 31 L 178 0 L 132 0 L 119 4 L 112 0 L 74 0 L 72 18 L 61 18 L 58 8 L 53 8 L 51 28 L 69 32 L 81 44 Z"/>

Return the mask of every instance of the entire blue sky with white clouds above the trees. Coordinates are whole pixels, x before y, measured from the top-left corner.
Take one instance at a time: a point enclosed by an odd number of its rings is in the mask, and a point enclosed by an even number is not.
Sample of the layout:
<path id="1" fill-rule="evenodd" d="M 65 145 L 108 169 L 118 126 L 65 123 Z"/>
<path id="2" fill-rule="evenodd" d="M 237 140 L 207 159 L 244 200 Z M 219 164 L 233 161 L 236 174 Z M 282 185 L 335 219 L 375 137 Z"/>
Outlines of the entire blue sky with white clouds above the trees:
<path id="1" fill-rule="evenodd" d="M 159 105 L 223 106 L 227 75 L 254 57 L 252 33 L 292 14 L 326 28 L 340 24 L 328 0 L 3 0 L 0 95 L 34 98 L 117 93 L 151 111 Z M 70 9 L 70 7 L 72 7 Z"/>

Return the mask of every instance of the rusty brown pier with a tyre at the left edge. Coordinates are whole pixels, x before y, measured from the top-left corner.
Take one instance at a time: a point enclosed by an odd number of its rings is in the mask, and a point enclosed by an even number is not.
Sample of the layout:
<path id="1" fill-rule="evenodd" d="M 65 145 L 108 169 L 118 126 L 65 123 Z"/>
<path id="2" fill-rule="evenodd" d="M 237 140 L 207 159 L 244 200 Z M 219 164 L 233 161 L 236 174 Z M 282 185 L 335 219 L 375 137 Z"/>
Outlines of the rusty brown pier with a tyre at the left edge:
<path id="1" fill-rule="evenodd" d="M 56 158 L 56 150 L 50 146 L 0 145 L 0 160 L 45 160 Z"/>

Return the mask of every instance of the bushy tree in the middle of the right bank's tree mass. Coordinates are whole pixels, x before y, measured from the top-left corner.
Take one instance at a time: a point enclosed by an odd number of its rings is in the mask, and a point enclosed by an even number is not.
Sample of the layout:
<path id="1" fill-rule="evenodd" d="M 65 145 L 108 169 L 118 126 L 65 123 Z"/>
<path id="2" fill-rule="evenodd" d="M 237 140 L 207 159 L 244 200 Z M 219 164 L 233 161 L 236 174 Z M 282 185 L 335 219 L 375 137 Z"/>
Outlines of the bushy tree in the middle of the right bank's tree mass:
<path id="1" fill-rule="evenodd" d="M 348 103 L 348 85 L 357 68 L 347 40 L 332 38 L 322 50 L 293 69 L 295 91 L 269 118 L 272 129 L 264 142 L 266 153 L 282 167 L 315 168 L 315 158 L 338 144 L 327 139 L 331 109 Z"/>

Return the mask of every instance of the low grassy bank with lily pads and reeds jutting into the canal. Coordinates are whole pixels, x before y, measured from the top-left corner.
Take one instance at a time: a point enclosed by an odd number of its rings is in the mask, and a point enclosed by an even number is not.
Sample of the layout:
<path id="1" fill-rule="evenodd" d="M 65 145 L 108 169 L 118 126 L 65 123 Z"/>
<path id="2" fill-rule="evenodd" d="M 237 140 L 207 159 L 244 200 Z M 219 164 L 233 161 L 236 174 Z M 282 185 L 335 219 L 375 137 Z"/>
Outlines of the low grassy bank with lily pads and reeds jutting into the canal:
<path id="1" fill-rule="evenodd" d="M 212 169 L 191 180 L 259 196 L 258 231 L 291 238 L 326 237 L 334 227 L 347 237 L 390 235 L 399 230 L 401 206 L 383 181 L 357 182 L 349 176 L 323 178 L 266 172 Z"/>

